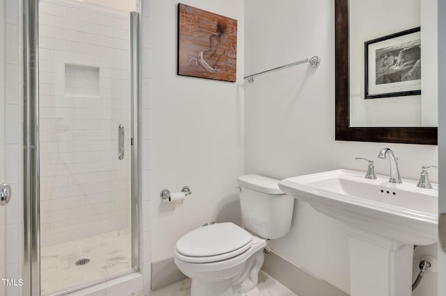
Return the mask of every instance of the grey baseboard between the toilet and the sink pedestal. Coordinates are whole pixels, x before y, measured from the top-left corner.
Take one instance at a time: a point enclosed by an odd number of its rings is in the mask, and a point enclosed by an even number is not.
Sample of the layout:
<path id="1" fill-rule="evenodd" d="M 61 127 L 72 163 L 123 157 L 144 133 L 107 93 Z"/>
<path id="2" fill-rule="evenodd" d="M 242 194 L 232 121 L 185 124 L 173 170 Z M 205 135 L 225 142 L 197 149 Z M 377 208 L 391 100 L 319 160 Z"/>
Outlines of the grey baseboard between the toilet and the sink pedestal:
<path id="1" fill-rule="evenodd" d="M 265 255 L 265 263 L 263 263 L 262 270 L 273 279 L 279 281 L 279 283 L 282 283 L 286 288 L 289 288 L 295 295 L 348 296 L 339 288 L 314 277 L 274 252 Z"/>

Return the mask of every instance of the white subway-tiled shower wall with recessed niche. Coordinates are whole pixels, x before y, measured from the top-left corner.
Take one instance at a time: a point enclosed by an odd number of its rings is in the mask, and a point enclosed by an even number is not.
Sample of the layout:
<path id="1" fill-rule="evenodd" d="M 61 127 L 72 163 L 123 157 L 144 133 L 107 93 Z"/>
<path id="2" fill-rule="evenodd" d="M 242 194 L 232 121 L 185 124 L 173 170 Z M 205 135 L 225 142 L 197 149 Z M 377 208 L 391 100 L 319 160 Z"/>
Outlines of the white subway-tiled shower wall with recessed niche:
<path id="1" fill-rule="evenodd" d="M 45 247 L 130 227 L 130 15 L 62 0 L 39 10 Z"/>

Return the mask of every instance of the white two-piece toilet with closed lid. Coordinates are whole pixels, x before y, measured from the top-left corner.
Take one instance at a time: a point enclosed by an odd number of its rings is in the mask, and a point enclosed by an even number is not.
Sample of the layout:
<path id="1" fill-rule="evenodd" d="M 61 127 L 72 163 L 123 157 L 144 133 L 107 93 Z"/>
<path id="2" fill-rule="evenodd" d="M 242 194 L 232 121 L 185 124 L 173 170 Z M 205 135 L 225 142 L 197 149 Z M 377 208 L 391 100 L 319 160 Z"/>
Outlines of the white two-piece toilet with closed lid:
<path id="1" fill-rule="evenodd" d="M 175 263 L 192 279 L 191 296 L 258 296 L 256 288 L 268 241 L 289 232 L 293 197 L 279 181 L 247 174 L 238 178 L 243 226 L 209 224 L 176 242 Z"/>

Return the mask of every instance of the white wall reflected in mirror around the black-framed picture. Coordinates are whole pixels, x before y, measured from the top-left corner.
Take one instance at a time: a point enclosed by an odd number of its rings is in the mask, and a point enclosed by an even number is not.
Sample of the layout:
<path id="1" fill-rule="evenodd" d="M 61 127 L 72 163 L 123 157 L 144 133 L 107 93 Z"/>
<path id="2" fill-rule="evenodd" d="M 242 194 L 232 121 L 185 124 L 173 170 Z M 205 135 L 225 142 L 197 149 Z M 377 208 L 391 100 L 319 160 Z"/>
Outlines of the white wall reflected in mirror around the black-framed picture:
<path id="1" fill-rule="evenodd" d="M 421 95 L 364 99 L 363 74 L 364 41 L 420 26 L 420 0 L 355 0 L 348 8 L 355 12 L 349 15 L 351 126 L 421 126 Z"/>

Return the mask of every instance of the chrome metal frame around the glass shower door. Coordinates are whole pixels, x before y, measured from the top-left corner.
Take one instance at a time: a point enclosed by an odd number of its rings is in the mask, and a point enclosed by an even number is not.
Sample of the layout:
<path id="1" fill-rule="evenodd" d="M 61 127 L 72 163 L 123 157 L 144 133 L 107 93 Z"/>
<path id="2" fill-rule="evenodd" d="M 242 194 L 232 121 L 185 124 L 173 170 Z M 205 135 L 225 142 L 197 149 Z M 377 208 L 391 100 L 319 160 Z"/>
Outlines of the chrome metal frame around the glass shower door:
<path id="1" fill-rule="evenodd" d="M 39 171 L 39 38 L 38 2 L 23 2 L 23 192 L 24 251 L 23 295 L 40 295 L 40 171 Z M 132 271 L 139 270 L 139 13 L 130 13 L 130 113 L 131 113 L 131 225 Z M 116 277 L 121 277 L 118 274 Z M 106 280 L 111 279 L 107 277 Z M 95 283 L 79 286 L 86 288 Z"/>

